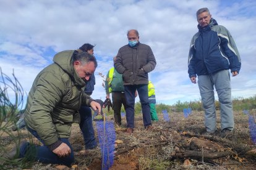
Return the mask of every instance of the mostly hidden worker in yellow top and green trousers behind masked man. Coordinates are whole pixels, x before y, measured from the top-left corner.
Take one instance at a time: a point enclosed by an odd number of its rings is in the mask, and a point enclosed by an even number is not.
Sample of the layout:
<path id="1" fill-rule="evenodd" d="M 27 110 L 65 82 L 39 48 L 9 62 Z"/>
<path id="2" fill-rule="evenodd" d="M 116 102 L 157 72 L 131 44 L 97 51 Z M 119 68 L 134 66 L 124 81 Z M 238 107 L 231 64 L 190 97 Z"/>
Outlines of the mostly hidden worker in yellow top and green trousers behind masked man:
<path id="1" fill-rule="evenodd" d="M 152 121 L 158 121 L 156 113 L 156 95 L 155 87 L 151 81 L 148 81 L 148 103 L 150 104 L 150 116 Z"/>

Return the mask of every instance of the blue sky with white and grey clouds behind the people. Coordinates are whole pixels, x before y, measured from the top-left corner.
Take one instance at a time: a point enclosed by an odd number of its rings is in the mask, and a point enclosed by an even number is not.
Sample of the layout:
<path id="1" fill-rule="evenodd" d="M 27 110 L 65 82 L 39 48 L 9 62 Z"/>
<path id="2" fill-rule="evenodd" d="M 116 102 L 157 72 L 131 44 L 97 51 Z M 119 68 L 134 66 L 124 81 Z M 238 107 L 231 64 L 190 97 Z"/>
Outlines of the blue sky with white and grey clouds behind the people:
<path id="1" fill-rule="evenodd" d="M 98 60 L 92 97 L 104 100 L 98 73 L 107 74 L 113 56 L 127 44 L 127 30 L 137 29 L 140 42 L 150 45 L 155 54 L 156 68 L 149 76 L 157 102 L 200 100 L 198 85 L 190 83 L 187 74 L 187 55 L 198 31 L 195 12 L 202 7 L 208 7 L 218 24 L 228 28 L 241 55 L 241 71 L 231 78 L 233 98 L 254 96 L 255 0 L 0 0 L 0 67 L 7 75 L 14 69 L 28 93 L 54 54 L 89 42 L 96 45 Z"/>

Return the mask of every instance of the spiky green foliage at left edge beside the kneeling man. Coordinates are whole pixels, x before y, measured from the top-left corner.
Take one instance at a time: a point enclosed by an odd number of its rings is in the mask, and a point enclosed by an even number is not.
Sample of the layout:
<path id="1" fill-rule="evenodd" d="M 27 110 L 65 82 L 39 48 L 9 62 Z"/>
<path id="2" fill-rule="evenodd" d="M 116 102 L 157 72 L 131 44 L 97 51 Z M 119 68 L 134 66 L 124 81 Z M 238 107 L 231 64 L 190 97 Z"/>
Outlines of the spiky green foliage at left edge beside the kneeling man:
<path id="1" fill-rule="evenodd" d="M 6 134 L 10 142 L 14 142 L 19 148 L 21 139 L 20 130 L 17 133 L 13 132 L 11 127 L 17 121 L 17 112 L 23 104 L 23 89 L 19 81 L 2 73 L 0 68 L 0 139 L 6 139 Z M 14 99 L 10 99 L 9 93 L 14 94 Z M 5 136 L 4 136 L 5 135 Z M 3 137 L 4 136 L 4 137 Z M 1 153 L 7 153 L 6 145 L 0 145 Z M 7 160 L 3 157 L 0 158 L 0 169 L 22 169 L 27 168 L 29 164 L 25 163 L 27 159 Z"/>

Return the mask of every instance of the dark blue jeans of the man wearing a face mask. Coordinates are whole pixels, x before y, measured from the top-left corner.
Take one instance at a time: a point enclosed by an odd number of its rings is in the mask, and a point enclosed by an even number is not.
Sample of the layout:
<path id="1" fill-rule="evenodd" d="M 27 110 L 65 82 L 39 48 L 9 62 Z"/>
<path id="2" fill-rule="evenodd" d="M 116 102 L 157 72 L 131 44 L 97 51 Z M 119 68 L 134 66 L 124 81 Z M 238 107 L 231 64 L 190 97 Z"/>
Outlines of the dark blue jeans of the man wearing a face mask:
<path id="1" fill-rule="evenodd" d="M 144 127 L 151 125 L 150 105 L 148 103 L 148 84 L 124 86 L 124 94 L 126 95 L 126 121 L 127 127 L 134 128 L 134 104 L 135 91 L 138 91 L 140 103 L 142 104 L 142 115 Z"/>

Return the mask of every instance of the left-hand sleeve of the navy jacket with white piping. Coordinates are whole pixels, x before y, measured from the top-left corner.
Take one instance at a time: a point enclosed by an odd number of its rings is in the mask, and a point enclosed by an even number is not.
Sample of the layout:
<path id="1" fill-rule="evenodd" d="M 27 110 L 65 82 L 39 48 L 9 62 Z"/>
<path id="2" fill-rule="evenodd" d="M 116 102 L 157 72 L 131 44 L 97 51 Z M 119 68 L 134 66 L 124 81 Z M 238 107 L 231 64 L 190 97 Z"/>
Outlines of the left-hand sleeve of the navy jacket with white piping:
<path id="1" fill-rule="evenodd" d="M 189 48 L 189 57 L 188 57 L 188 73 L 189 73 L 189 78 L 196 77 L 197 75 L 195 74 L 195 49 L 194 49 L 194 38 L 192 38 L 190 42 L 190 48 Z"/>

